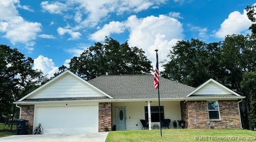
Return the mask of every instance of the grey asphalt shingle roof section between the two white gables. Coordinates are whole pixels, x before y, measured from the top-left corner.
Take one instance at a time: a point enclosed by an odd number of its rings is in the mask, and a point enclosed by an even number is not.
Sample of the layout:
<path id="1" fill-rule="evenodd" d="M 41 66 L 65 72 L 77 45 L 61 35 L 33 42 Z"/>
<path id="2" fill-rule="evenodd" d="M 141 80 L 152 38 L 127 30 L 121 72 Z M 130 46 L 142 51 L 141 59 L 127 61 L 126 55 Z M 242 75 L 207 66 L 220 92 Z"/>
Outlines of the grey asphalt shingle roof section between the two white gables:
<path id="1" fill-rule="evenodd" d="M 153 86 L 154 75 L 102 75 L 89 80 L 93 86 L 112 96 L 114 99 L 158 98 Z M 182 98 L 195 88 L 172 80 L 159 78 L 160 98 Z"/>

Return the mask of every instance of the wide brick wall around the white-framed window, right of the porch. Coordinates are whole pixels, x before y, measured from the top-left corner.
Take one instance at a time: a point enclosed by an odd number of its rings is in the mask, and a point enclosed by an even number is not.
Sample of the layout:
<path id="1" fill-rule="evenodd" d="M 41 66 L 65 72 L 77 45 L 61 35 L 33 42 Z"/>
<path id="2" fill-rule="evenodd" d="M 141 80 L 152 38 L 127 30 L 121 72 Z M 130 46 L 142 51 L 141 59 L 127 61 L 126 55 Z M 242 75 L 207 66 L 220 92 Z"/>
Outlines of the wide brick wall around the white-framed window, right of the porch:
<path id="1" fill-rule="evenodd" d="M 185 120 L 185 127 L 194 128 L 194 117 L 197 118 L 195 128 L 208 128 L 211 123 L 214 128 L 240 128 L 240 116 L 237 100 L 220 100 L 219 110 L 221 120 L 209 120 L 207 101 L 180 102 L 182 120 Z"/>

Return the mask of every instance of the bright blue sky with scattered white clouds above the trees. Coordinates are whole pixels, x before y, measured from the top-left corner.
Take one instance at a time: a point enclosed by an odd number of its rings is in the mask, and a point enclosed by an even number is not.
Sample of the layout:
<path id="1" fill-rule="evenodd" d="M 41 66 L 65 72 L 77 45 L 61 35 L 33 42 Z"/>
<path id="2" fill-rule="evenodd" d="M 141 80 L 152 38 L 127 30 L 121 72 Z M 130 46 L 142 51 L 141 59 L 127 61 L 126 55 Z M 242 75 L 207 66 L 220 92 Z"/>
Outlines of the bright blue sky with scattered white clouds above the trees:
<path id="1" fill-rule="evenodd" d="M 250 34 L 244 8 L 256 0 L 0 0 L 0 44 L 34 59 L 53 76 L 105 36 L 128 40 L 155 66 L 179 40 L 207 43 Z M 168 59 L 167 59 L 168 61 Z M 163 70 L 162 67 L 159 69 Z"/>

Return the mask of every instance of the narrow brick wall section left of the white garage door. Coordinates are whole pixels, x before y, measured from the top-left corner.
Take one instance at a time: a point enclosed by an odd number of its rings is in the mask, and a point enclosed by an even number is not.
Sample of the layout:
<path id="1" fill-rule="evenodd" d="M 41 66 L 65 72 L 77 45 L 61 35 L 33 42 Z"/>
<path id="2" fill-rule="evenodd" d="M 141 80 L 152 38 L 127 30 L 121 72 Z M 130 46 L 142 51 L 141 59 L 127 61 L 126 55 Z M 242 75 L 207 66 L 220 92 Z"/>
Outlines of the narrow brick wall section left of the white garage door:
<path id="1" fill-rule="evenodd" d="M 30 114 L 28 114 L 27 108 L 29 107 L 29 110 L 31 111 Z M 21 112 L 20 112 L 20 118 L 29 120 L 28 122 L 28 134 L 33 133 L 33 123 L 34 123 L 34 105 L 21 105 Z"/>

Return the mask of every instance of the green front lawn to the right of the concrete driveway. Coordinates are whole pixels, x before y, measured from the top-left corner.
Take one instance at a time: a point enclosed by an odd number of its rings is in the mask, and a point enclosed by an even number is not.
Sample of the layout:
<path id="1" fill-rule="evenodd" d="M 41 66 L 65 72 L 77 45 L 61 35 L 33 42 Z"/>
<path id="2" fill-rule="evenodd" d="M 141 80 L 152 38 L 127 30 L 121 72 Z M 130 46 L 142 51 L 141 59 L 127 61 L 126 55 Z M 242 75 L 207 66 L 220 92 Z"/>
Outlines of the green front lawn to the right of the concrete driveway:
<path id="1" fill-rule="evenodd" d="M 221 140 L 222 139 L 222 140 Z M 111 131 L 106 142 L 256 141 L 256 131 L 240 129 L 163 129 Z"/>

